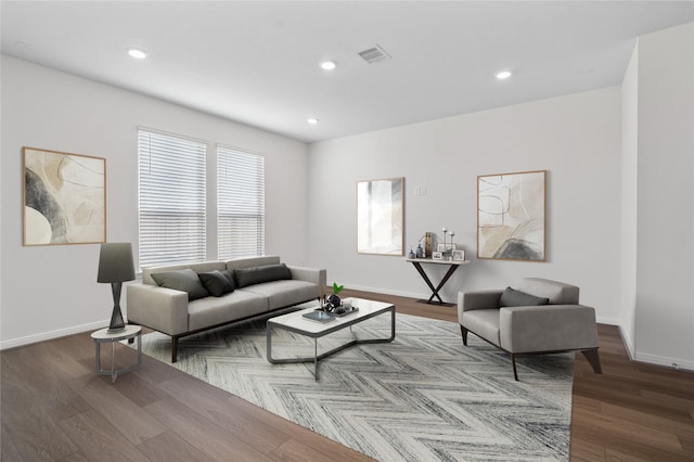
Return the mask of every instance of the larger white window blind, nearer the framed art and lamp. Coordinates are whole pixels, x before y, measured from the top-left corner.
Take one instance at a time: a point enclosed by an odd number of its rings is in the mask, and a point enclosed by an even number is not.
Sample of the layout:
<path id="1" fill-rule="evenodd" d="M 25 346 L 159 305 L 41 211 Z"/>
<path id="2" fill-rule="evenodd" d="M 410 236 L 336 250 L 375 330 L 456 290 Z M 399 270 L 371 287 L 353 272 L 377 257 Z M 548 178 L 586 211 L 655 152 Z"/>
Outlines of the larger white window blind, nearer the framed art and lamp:
<path id="1" fill-rule="evenodd" d="M 141 268 L 205 260 L 206 147 L 139 130 Z"/>

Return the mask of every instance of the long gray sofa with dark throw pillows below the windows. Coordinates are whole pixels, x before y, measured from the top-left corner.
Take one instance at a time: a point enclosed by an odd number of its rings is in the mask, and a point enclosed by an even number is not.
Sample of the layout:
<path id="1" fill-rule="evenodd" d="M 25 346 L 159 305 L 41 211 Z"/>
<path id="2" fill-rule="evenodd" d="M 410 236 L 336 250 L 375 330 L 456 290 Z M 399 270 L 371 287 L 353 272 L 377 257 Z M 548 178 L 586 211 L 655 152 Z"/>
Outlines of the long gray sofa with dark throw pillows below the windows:
<path id="1" fill-rule="evenodd" d="M 170 335 L 176 362 L 179 338 L 322 298 L 325 281 L 324 269 L 286 266 L 278 256 L 144 268 L 142 282 L 127 286 L 127 318 Z"/>

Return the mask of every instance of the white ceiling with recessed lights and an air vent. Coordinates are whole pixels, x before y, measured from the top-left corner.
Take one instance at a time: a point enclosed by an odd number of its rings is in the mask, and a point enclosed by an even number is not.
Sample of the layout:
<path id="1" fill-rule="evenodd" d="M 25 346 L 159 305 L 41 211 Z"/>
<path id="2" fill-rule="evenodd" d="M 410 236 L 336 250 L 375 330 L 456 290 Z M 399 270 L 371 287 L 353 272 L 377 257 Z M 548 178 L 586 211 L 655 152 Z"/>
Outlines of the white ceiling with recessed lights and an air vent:
<path id="1" fill-rule="evenodd" d="M 5 54 L 312 142 L 619 85 L 635 38 L 694 21 L 694 2 L 3 0 L 0 14 Z M 393 59 L 358 55 L 375 44 Z"/>

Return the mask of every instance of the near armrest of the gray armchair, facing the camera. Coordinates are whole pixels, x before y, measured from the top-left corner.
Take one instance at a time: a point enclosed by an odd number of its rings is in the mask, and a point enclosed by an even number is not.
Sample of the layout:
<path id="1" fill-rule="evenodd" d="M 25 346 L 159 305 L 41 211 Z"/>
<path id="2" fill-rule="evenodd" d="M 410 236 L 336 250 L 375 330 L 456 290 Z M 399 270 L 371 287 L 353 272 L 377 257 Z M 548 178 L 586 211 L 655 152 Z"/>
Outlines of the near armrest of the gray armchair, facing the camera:
<path id="1" fill-rule="evenodd" d="M 510 352 L 597 348 L 595 309 L 583 305 L 500 308 L 499 334 Z"/>

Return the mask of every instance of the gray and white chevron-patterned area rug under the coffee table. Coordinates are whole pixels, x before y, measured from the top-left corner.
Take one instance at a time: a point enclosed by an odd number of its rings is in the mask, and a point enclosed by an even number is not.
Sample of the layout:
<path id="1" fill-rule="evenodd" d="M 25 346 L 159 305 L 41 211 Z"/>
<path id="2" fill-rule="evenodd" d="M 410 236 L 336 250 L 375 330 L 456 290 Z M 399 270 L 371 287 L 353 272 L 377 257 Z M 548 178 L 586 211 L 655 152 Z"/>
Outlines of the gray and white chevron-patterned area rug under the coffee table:
<path id="1" fill-rule="evenodd" d="M 397 315 L 396 339 L 319 362 L 271 364 L 265 319 L 181 339 L 172 365 L 380 461 L 568 460 L 574 355 L 509 356 L 457 323 Z M 389 334 L 383 315 L 319 339 Z M 142 337 L 170 361 L 170 338 Z M 312 356 L 313 341 L 274 331 L 274 357 Z"/>

